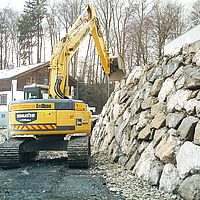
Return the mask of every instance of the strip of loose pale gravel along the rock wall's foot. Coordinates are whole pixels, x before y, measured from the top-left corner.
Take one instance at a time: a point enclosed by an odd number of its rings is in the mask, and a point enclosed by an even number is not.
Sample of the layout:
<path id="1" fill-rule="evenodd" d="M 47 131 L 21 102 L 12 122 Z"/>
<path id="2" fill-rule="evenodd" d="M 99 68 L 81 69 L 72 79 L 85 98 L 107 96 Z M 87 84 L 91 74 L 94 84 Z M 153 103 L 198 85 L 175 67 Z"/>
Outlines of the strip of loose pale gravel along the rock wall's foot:
<path id="1" fill-rule="evenodd" d="M 127 200 L 182 199 L 178 195 L 166 193 L 138 179 L 130 170 L 126 170 L 123 166 L 112 163 L 107 155 L 107 152 L 94 154 L 92 157 L 96 166 L 91 171 L 94 174 L 103 174 L 104 184 L 110 191 L 122 195 Z"/>

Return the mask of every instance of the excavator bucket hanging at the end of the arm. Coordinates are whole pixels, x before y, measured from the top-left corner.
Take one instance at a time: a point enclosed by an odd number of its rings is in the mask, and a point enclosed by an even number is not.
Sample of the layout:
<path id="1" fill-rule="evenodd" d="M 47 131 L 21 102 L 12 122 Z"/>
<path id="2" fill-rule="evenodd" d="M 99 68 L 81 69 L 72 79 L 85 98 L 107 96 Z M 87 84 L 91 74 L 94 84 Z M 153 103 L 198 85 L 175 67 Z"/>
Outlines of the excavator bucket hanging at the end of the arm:
<path id="1" fill-rule="evenodd" d="M 124 61 L 121 56 L 110 58 L 110 81 L 120 81 L 126 75 Z"/>

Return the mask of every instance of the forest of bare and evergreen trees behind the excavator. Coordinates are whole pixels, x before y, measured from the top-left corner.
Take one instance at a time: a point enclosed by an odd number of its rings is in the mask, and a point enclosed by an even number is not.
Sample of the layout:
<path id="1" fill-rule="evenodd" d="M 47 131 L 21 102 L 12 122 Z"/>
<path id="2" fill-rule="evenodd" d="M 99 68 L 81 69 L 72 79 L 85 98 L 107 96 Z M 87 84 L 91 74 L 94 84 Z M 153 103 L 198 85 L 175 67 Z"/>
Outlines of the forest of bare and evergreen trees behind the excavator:
<path id="1" fill-rule="evenodd" d="M 107 50 L 123 57 L 127 74 L 160 59 L 166 43 L 200 22 L 200 0 L 190 8 L 173 0 L 26 0 L 22 12 L 0 9 L 0 69 L 48 61 L 87 3 L 97 10 Z M 103 105 L 108 80 L 92 37 L 85 45 L 71 59 L 70 75 L 83 85 L 80 96 L 88 91 L 82 99 L 97 105 L 91 101 L 96 96 Z"/>

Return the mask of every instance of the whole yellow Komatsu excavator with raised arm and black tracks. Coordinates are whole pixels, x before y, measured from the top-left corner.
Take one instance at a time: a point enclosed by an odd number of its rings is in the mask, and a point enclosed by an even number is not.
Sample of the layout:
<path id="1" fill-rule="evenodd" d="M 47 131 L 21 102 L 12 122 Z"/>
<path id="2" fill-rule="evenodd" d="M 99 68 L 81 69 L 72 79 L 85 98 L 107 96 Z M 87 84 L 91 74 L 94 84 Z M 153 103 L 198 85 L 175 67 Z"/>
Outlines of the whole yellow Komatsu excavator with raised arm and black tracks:
<path id="1" fill-rule="evenodd" d="M 122 58 L 110 57 L 95 8 L 87 5 L 68 34 L 54 47 L 48 99 L 42 99 L 47 94 L 45 88 L 37 88 L 37 92 L 26 88 L 25 100 L 9 105 L 10 138 L 0 145 L 0 167 L 17 168 L 39 151 L 54 150 L 67 151 L 69 167 L 89 166 L 91 113 L 83 101 L 69 99 L 68 85 L 70 59 L 89 34 L 93 36 L 105 74 L 112 81 L 124 77 Z"/>

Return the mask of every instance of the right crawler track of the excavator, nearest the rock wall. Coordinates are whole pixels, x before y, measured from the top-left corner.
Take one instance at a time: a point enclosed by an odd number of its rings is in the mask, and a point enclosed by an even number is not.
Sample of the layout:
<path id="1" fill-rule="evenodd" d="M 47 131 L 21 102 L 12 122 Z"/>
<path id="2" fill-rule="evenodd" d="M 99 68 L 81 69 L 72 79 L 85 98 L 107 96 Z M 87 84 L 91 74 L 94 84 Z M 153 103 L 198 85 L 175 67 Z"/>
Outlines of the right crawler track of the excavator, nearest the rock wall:
<path id="1" fill-rule="evenodd" d="M 70 168 L 88 168 L 90 163 L 90 138 L 73 137 L 67 147 Z"/>

